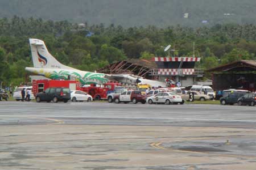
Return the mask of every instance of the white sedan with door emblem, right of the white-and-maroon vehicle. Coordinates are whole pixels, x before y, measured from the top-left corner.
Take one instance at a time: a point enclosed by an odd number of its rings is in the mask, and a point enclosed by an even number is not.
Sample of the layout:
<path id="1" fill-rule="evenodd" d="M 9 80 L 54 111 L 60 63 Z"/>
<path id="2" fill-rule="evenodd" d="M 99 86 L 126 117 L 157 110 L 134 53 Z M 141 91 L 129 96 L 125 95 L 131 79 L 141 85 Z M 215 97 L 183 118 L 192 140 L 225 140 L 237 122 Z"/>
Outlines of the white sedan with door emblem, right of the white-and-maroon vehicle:
<path id="1" fill-rule="evenodd" d="M 183 104 L 181 96 L 176 95 L 174 92 L 160 92 L 154 96 L 147 97 L 148 104 L 165 103 L 165 104 Z"/>

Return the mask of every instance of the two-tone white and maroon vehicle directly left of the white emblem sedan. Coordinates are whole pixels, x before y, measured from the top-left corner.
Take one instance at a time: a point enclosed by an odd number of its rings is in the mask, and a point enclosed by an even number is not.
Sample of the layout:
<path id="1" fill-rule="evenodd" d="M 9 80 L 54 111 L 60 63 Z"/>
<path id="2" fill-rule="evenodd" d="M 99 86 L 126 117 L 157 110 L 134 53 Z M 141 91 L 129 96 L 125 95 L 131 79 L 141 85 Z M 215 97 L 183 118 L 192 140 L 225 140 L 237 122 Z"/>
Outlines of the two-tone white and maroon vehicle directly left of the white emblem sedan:
<path id="1" fill-rule="evenodd" d="M 141 91 L 134 91 L 134 90 L 129 90 L 129 91 L 125 91 L 122 92 L 121 95 L 115 97 L 114 101 L 115 103 L 129 103 L 130 101 L 132 101 L 134 104 L 141 102 L 142 104 L 146 103 L 146 95 L 142 95 Z"/>

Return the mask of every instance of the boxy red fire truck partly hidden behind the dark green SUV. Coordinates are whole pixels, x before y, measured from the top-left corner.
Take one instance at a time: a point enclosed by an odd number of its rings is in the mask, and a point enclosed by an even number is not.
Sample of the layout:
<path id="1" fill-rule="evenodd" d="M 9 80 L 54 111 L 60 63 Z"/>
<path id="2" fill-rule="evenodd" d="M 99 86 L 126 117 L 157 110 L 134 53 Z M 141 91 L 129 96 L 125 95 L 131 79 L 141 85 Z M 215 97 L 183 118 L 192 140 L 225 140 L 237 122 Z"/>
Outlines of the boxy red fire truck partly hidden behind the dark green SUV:
<path id="1" fill-rule="evenodd" d="M 81 83 L 74 80 L 33 80 L 32 82 L 32 91 L 35 96 L 49 87 L 68 87 L 72 91 L 79 90 Z"/>

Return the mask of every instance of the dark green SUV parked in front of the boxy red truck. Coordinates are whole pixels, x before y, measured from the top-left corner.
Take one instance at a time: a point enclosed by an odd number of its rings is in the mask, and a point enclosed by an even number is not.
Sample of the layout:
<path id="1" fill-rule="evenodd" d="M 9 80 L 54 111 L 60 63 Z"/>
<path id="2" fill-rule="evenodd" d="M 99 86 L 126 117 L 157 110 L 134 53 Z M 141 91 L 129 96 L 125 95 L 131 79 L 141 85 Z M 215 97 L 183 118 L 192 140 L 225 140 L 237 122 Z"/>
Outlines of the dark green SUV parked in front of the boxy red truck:
<path id="1" fill-rule="evenodd" d="M 47 101 L 57 103 L 58 101 L 64 101 L 67 103 L 71 99 L 71 92 L 67 87 L 51 87 L 46 91 L 40 92 L 36 95 L 36 102 Z"/>

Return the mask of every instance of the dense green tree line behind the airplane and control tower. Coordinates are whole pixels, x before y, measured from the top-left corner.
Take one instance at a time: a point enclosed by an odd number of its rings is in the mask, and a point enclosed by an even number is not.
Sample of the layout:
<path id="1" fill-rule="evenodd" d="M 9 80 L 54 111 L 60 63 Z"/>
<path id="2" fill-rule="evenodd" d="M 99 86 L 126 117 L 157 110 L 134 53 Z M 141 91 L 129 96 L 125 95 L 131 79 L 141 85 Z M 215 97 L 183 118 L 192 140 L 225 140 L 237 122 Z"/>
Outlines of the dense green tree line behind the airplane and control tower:
<path id="1" fill-rule="evenodd" d="M 94 71 L 122 59 L 167 56 L 168 44 L 179 56 L 201 57 L 197 67 L 209 69 L 239 59 L 255 59 L 256 25 L 216 24 L 213 27 L 124 28 L 121 25 L 73 24 L 37 18 L 0 19 L 0 81 L 25 81 L 24 67 L 32 66 L 29 38 L 42 39 L 64 65 Z"/>

